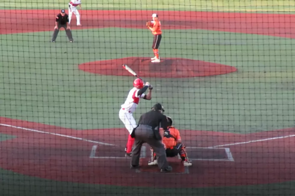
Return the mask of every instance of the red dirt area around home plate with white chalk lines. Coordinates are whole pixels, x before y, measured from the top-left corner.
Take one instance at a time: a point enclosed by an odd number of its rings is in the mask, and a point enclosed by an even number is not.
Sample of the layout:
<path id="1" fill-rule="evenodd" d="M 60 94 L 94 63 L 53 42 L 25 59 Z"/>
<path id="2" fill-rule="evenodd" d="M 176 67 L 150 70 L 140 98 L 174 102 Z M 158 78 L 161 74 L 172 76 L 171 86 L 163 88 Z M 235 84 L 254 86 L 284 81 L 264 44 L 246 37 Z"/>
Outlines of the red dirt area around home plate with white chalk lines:
<path id="1" fill-rule="evenodd" d="M 28 176 L 161 188 L 253 185 L 295 179 L 295 128 L 248 135 L 181 130 L 188 156 L 195 159 L 193 165 L 183 169 L 179 159 L 172 158 L 169 160 L 174 171 L 159 173 L 156 166 L 146 165 L 148 156 L 142 158 L 145 165 L 140 170 L 129 169 L 130 159 L 123 157 L 128 134 L 124 129 L 73 130 L 3 117 L 0 123 L 0 133 L 16 136 L 0 142 L 0 167 Z M 232 145 L 224 146 L 224 151 L 208 148 L 228 143 Z M 97 146 L 95 156 L 93 146 Z"/>

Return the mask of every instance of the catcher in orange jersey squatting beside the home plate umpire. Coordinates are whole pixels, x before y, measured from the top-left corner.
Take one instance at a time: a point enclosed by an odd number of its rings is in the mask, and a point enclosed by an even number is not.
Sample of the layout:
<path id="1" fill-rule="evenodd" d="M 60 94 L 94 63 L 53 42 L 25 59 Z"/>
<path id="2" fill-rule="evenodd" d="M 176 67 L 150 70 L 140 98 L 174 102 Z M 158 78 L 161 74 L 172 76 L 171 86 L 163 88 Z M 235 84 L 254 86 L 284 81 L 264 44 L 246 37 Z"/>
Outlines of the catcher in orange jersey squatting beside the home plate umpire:
<path id="1" fill-rule="evenodd" d="M 184 166 L 191 166 L 192 163 L 188 161 L 187 153 L 185 152 L 185 146 L 183 143 L 181 143 L 181 137 L 179 134 L 178 129 L 174 128 L 172 126 L 172 119 L 167 116 L 168 120 L 168 129 L 164 132 L 163 137 L 163 144 L 166 147 L 166 156 L 167 157 L 175 157 L 178 154 L 181 157 L 181 162 Z M 157 157 L 156 154 L 153 152 L 153 149 L 151 148 L 151 155 L 152 155 L 152 161 L 148 163 L 148 165 L 157 165 Z"/>

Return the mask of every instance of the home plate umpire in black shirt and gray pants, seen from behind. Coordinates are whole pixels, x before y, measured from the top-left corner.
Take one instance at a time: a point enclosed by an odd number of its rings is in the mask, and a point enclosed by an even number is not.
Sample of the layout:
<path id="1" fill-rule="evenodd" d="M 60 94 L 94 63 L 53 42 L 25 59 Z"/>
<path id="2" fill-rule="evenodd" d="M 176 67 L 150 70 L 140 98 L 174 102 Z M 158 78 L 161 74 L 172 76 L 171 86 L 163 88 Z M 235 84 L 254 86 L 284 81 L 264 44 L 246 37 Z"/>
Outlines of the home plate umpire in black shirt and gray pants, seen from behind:
<path id="1" fill-rule="evenodd" d="M 139 166 L 139 158 L 141 146 L 147 143 L 151 146 L 158 158 L 158 166 L 161 172 L 172 171 L 169 166 L 162 136 L 167 130 L 167 117 L 163 114 L 164 109 L 161 104 L 157 103 L 152 107 L 152 110 L 140 116 L 138 125 L 133 129 L 131 137 L 135 138 L 135 148 L 131 155 L 131 168 Z M 161 132 L 161 134 L 160 134 Z"/>

